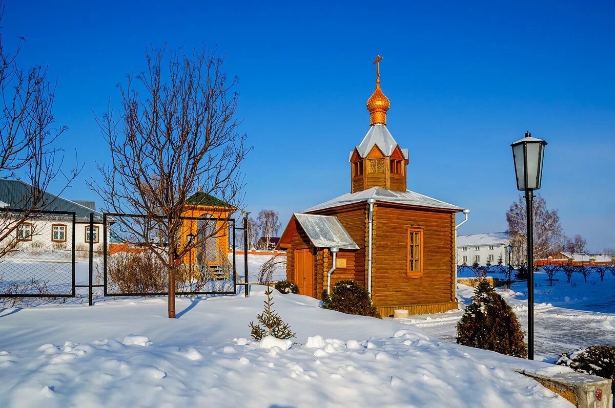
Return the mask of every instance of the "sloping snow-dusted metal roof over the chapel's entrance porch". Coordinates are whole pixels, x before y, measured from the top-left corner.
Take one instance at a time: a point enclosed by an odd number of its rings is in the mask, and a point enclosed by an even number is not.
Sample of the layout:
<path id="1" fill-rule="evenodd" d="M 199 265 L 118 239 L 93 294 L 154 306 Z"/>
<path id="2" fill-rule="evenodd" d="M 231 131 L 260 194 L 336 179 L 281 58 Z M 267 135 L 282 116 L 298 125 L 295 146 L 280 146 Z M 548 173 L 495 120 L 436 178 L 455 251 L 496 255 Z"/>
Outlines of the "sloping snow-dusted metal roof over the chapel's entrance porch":
<path id="1" fill-rule="evenodd" d="M 359 249 L 337 217 L 300 213 L 293 216 L 315 247 Z"/>

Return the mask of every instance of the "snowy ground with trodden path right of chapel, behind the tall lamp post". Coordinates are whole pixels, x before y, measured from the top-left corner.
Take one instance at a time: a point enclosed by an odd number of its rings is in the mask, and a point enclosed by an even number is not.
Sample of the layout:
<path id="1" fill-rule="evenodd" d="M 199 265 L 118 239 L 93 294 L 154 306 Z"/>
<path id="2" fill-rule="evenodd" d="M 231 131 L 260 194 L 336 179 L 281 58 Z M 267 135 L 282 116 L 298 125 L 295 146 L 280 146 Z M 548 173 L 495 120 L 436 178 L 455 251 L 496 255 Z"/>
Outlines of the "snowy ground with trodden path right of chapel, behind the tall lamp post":
<path id="1" fill-rule="evenodd" d="M 491 275 L 491 274 L 490 274 Z M 496 275 L 497 277 L 497 275 Z M 592 273 L 585 283 L 575 273 L 571 283 L 557 272 L 552 286 L 544 273 L 534 273 L 534 352 L 536 358 L 553 361 L 564 351 L 588 345 L 615 345 L 615 277 L 605 275 L 604 281 Z M 512 284 L 509 289 L 497 289 L 513 308 L 523 330 L 527 330 L 527 283 Z M 464 304 L 470 302 L 474 289 L 459 285 Z M 456 324 L 462 311 L 452 310 L 434 315 L 410 316 L 405 323 L 423 328 L 447 342 L 454 342 Z"/>

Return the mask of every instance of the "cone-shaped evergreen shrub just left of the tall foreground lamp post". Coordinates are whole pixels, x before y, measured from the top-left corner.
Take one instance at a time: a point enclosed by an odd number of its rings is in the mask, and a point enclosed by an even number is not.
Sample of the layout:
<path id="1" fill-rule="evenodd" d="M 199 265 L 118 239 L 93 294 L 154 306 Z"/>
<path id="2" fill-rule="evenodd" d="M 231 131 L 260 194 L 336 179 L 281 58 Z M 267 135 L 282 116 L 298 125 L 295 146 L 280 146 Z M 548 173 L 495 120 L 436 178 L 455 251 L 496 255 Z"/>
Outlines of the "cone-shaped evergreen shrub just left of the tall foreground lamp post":
<path id="1" fill-rule="evenodd" d="M 512 308 L 488 281 L 480 280 L 457 324 L 457 343 L 526 358 L 523 334 Z"/>

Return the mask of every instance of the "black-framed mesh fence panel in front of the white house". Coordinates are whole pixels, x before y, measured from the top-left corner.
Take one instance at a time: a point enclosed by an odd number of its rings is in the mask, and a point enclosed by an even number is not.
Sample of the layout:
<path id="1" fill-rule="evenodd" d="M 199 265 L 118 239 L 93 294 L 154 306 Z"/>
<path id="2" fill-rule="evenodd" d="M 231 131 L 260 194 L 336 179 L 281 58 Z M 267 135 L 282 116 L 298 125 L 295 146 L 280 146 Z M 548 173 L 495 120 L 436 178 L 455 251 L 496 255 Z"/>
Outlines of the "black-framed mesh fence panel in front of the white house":
<path id="1" fill-rule="evenodd" d="M 0 211 L 0 297 L 74 297 L 76 216 Z"/>

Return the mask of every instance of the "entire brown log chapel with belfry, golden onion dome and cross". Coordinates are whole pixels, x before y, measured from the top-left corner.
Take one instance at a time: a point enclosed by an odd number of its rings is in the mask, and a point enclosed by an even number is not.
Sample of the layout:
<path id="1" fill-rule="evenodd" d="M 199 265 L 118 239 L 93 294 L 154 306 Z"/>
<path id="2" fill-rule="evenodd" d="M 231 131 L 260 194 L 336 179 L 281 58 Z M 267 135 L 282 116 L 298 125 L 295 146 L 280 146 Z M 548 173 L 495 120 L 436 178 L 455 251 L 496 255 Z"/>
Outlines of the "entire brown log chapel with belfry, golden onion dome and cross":
<path id="1" fill-rule="evenodd" d="M 445 312 L 458 306 L 454 226 L 462 208 L 407 190 L 408 149 L 387 128 L 382 60 L 367 100 L 370 129 L 349 155 L 351 192 L 293 214 L 277 248 L 301 294 L 320 298 L 352 279 L 383 316 Z"/>

